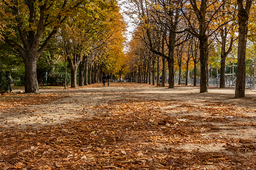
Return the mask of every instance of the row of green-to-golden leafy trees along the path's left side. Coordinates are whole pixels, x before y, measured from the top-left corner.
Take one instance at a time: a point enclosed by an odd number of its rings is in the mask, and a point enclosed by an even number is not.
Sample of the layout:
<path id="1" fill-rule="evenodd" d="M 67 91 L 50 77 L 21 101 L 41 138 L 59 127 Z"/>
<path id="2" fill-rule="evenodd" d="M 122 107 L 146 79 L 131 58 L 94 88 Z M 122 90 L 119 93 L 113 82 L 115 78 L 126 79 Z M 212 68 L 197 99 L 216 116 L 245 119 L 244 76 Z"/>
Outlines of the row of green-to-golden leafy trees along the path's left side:
<path id="1" fill-rule="evenodd" d="M 39 92 L 39 58 L 53 71 L 57 62 L 68 61 L 71 87 L 77 86 L 77 72 L 82 86 L 124 65 L 126 25 L 115 0 L 1 1 L 0 17 L 1 46 L 11 46 L 1 49 L 2 63 L 23 60 L 25 92 Z"/>

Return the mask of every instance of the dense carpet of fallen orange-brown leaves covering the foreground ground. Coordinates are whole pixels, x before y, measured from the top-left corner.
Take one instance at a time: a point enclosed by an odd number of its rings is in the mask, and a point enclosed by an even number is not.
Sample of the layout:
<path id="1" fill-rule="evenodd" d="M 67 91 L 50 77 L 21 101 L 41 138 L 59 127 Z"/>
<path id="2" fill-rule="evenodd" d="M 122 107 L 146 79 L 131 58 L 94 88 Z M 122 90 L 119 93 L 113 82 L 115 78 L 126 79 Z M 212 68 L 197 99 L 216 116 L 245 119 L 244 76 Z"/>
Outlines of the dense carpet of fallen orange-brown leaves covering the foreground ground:
<path id="1" fill-rule="evenodd" d="M 187 121 L 166 113 L 162 108 L 171 104 L 110 101 L 94 106 L 97 114 L 90 118 L 40 130 L 1 131 L 0 168 L 255 169 L 255 141 L 205 138 L 204 133 L 219 129 L 200 116 L 191 115 Z M 204 124 L 194 124 L 198 120 Z M 229 122 L 225 117 L 219 121 Z M 226 152 L 181 149 L 189 144 L 222 145 Z"/>

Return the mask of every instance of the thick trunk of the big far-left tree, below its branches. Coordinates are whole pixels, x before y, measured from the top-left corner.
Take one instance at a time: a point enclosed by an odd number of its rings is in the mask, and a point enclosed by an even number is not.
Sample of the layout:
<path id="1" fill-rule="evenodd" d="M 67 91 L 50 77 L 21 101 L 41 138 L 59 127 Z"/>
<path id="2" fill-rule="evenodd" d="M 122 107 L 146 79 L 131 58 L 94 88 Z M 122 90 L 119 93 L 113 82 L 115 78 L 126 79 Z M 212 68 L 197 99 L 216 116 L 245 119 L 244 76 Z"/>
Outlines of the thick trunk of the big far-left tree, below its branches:
<path id="1" fill-rule="evenodd" d="M 29 55 L 29 54 L 28 54 Z M 25 62 L 25 92 L 26 93 L 39 93 L 38 79 L 36 76 L 36 62 L 37 56 L 29 55 Z"/>

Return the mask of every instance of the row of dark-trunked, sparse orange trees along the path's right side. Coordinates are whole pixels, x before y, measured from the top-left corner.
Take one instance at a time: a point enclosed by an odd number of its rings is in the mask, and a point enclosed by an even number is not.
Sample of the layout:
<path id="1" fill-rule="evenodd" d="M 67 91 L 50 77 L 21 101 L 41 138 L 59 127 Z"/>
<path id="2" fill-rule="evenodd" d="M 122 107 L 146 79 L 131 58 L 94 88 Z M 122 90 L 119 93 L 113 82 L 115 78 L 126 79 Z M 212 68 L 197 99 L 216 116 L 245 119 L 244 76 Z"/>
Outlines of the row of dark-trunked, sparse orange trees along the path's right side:
<path id="1" fill-rule="evenodd" d="M 143 76 L 146 75 L 146 72 L 151 73 L 146 71 L 146 66 L 150 66 L 151 63 L 154 66 L 155 61 L 157 61 L 156 73 L 159 76 L 160 56 L 162 57 L 163 80 L 167 73 L 165 71 L 167 62 L 169 88 L 174 88 L 177 67 L 181 70 L 181 66 L 185 65 L 188 75 L 188 68 L 191 67 L 189 63 L 192 62 L 194 71 L 196 71 L 196 63 L 200 62 L 200 92 L 207 92 L 209 55 L 217 53 L 217 46 L 219 46 L 220 87 L 224 88 L 226 58 L 232 52 L 234 42 L 237 41 L 235 96 L 245 96 L 246 42 L 250 12 L 250 22 L 252 23 L 249 24 L 250 40 L 255 43 L 253 41 L 255 39 L 253 38 L 255 37 L 255 22 L 253 22 L 255 5 L 253 1 L 131 0 L 129 3 L 130 10 L 127 14 L 138 25 L 137 33 L 130 42 L 129 56 L 130 58 L 142 58 L 138 67 L 134 68 L 134 65 L 133 68 L 131 67 L 131 69 L 143 70 L 139 72 L 138 76 L 142 78 L 146 77 Z M 138 44 L 138 41 L 141 46 L 135 49 L 133 44 Z M 132 63 L 133 59 L 130 59 L 130 62 Z M 154 69 L 154 67 L 152 68 Z"/>

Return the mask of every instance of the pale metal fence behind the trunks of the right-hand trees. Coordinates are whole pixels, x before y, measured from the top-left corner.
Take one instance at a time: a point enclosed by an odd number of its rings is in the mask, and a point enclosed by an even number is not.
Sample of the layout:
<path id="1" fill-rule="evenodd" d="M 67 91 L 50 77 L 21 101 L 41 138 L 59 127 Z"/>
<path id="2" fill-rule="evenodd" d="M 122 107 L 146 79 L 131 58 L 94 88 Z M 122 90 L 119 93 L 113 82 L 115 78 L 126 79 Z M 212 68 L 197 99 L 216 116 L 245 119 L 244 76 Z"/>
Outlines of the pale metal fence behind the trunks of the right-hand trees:
<path id="1" fill-rule="evenodd" d="M 235 87 L 236 86 L 236 77 L 226 77 L 225 78 L 225 86 L 226 87 Z M 254 84 L 253 84 L 253 80 L 254 80 Z M 174 83 L 178 84 L 179 79 L 175 79 Z M 189 85 L 193 85 L 194 79 L 188 79 L 188 84 Z M 180 80 L 181 84 L 185 83 L 185 79 L 181 79 Z M 200 78 L 196 79 L 196 84 L 200 85 Z M 209 78 L 208 79 L 208 84 L 209 86 L 213 86 L 213 87 L 220 87 L 220 78 Z M 249 88 L 255 88 L 255 84 L 256 84 L 256 77 L 253 78 L 253 76 L 248 76 L 245 79 L 245 86 L 249 87 Z M 254 85 L 254 86 L 253 86 Z"/>

